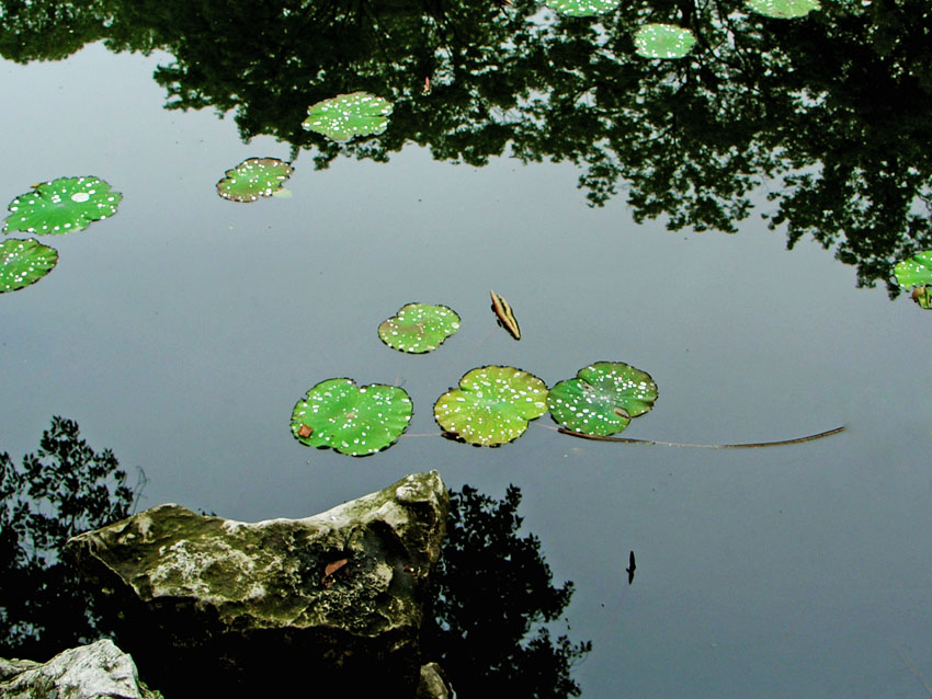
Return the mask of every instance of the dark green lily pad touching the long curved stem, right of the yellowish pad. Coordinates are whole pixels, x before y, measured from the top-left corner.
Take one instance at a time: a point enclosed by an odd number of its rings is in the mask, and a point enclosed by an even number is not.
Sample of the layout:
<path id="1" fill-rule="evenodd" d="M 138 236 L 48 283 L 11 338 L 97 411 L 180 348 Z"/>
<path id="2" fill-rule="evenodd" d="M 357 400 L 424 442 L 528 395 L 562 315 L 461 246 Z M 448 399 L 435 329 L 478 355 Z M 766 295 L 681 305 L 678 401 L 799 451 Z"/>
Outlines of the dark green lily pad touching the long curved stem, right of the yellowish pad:
<path id="1" fill-rule="evenodd" d="M 567 429 L 605 437 L 622 432 L 656 400 L 657 385 L 646 371 L 622 362 L 598 362 L 552 388 L 547 405 Z"/>

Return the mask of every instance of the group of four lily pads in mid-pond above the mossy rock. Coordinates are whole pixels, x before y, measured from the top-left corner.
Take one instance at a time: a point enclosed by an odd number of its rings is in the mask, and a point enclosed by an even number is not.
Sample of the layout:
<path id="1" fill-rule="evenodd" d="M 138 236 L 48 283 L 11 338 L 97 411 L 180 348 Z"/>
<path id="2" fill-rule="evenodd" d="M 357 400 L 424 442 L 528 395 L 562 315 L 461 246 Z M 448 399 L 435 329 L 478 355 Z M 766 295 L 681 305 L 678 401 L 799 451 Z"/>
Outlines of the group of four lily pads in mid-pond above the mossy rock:
<path id="1" fill-rule="evenodd" d="M 459 316 L 447 306 L 407 303 L 379 324 L 378 336 L 394 350 L 422 354 L 436 350 L 459 324 Z M 622 362 L 598 362 L 549 389 L 533 374 L 489 365 L 467 371 L 457 388 L 436 400 L 433 415 L 443 436 L 497 447 L 520 437 L 531 421 L 547 412 L 566 431 L 614 435 L 656 400 L 650 376 Z M 349 378 L 332 378 L 310 388 L 295 404 L 291 428 L 304 445 L 367 456 L 395 444 L 412 415 L 413 404 L 402 388 L 361 387 Z"/>

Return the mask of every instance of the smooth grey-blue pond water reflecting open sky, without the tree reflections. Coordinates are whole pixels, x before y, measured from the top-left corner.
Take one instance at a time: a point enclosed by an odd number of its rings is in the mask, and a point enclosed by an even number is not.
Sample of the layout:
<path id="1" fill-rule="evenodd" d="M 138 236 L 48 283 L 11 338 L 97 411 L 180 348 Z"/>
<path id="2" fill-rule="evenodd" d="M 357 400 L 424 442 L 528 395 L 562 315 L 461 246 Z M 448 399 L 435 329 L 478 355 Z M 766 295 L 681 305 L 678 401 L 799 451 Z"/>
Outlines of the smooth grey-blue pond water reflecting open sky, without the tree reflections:
<path id="1" fill-rule="evenodd" d="M 593 643 L 573 668 L 582 696 L 929 694 L 930 317 L 883 283 L 859 288 L 808 236 L 787 251 L 785 226 L 760 217 L 778 180 L 750 195 L 737 234 L 635 222 L 625 192 L 590 207 L 569 162 L 457 165 L 412 144 L 323 170 L 304 152 L 291 198 L 236 204 L 216 194 L 224 171 L 291 160 L 289 146 L 164 110 L 151 75 L 171 60 L 89 44 L 0 66 L 7 200 L 87 174 L 124 196 L 113 218 L 44 238 L 58 266 L 0 297 L 0 450 L 34 450 L 68 416 L 145 470 L 140 506 L 241 520 L 306 516 L 428 469 L 493 497 L 513 483 L 554 580 L 575 584 L 571 628 L 554 630 Z M 520 342 L 496 328 L 489 289 Z M 428 355 L 393 352 L 376 328 L 410 301 L 454 308 L 461 331 Z M 433 402 L 474 367 L 553 386 L 599 360 L 659 387 L 626 437 L 846 431 L 742 450 L 573 439 L 548 416 L 498 449 L 436 436 Z M 302 446 L 295 402 L 344 376 L 400 383 L 408 432 L 435 436 L 364 459 Z"/>

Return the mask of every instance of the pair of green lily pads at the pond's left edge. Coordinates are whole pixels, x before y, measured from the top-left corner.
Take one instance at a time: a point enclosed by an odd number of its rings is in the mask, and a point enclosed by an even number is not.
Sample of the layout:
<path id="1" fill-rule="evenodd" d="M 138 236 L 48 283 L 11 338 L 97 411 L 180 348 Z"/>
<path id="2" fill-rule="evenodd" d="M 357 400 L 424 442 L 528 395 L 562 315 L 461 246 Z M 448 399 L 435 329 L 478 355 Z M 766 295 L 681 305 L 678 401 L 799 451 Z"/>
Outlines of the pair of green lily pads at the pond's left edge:
<path id="1" fill-rule="evenodd" d="M 99 177 L 58 177 L 34 184 L 14 198 L 3 220 L 3 233 L 60 236 L 83 230 L 113 216 L 123 195 Z M 35 284 L 58 263 L 58 251 L 35 238 L 10 238 L 0 243 L 0 294 Z"/>

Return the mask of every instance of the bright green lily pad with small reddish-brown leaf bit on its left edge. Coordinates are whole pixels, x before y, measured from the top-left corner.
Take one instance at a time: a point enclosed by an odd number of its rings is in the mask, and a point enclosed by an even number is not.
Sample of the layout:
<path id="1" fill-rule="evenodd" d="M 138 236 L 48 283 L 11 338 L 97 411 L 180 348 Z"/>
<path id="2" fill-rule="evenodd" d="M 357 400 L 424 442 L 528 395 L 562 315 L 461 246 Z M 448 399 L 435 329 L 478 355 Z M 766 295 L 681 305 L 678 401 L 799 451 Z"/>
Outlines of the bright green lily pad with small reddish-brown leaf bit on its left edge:
<path id="1" fill-rule="evenodd" d="M 395 444 L 413 412 L 405 389 L 383 383 L 359 387 L 352 379 L 327 379 L 295 404 L 292 434 L 309 447 L 368 456 Z"/>

